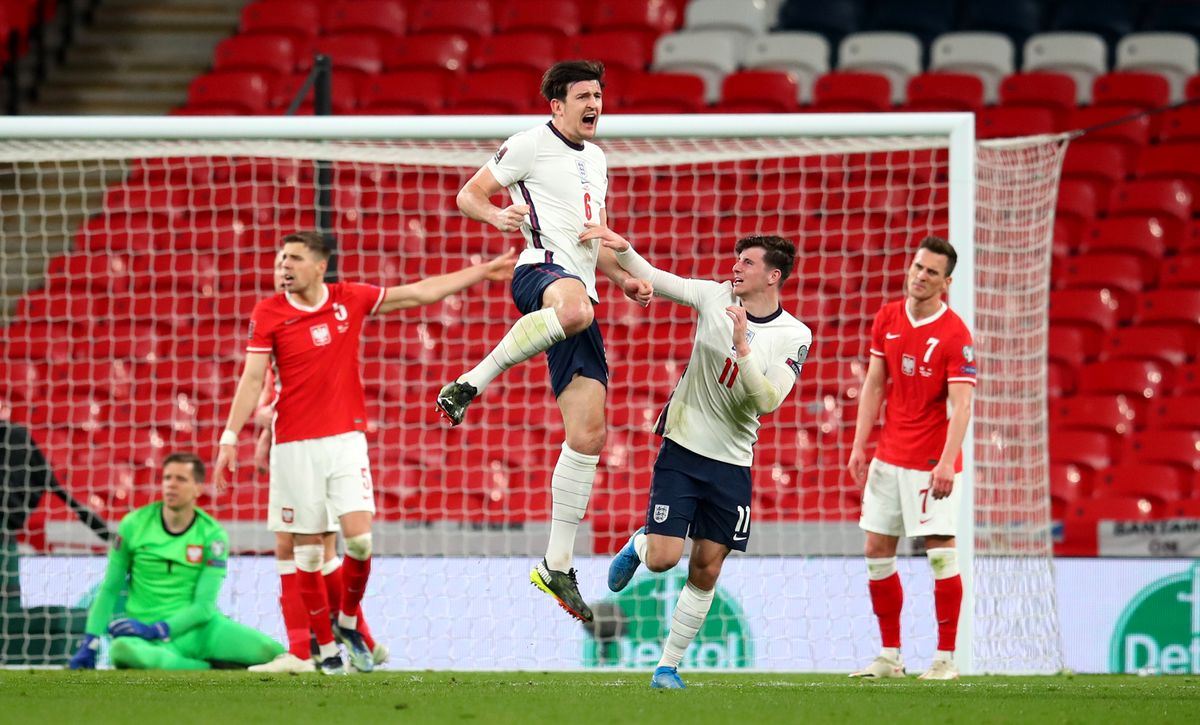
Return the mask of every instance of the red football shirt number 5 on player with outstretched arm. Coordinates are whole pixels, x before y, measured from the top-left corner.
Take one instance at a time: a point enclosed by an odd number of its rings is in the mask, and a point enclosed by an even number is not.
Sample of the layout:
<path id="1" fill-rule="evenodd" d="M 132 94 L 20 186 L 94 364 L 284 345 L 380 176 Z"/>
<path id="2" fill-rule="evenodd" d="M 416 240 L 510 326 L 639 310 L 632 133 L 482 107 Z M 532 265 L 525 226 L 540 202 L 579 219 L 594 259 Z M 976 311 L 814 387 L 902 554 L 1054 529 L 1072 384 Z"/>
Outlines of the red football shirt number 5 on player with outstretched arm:
<path id="1" fill-rule="evenodd" d="M 246 352 L 275 358 L 275 443 L 366 430 L 359 335 L 383 295 L 373 284 L 336 282 L 314 307 L 287 293 L 254 305 Z"/>

